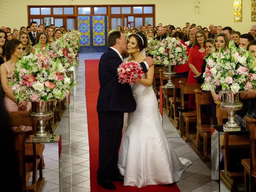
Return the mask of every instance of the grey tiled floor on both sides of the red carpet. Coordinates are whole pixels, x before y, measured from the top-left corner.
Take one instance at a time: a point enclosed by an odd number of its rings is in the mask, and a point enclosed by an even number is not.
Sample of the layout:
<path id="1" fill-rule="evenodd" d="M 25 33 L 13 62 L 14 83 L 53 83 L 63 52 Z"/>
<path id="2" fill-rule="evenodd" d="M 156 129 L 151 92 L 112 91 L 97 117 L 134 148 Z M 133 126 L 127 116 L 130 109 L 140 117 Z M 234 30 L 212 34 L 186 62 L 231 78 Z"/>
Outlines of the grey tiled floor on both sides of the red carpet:
<path id="1" fill-rule="evenodd" d="M 56 133 L 63 135 L 62 141 L 62 171 L 64 192 L 90 192 L 90 163 L 88 146 L 88 127 L 85 100 L 84 59 L 100 58 L 100 53 L 80 54 L 80 65 L 75 78 L 77 85 L 74 87 L 74 106 L 70 106 L 62 116 Z M 71 99 L 72 101 L 72 99 Z M 69 140 L 69 116 L 70 116 L 70 142 Z M 186 144 L 164 115 L 163 126 L 168 140 L 174 147 L 179 157 L 192 161 L 177 183 L 181 192 L 211 192 L 218 191 L 219 184 L 211 180 L 210 163 L 204 163 L 192 150 L 190 144 Z M 57 192 L 58 186 L 58 146 L 46 146 L 44 151 L 44 177 L 46 184 L 43 192 Z"/>

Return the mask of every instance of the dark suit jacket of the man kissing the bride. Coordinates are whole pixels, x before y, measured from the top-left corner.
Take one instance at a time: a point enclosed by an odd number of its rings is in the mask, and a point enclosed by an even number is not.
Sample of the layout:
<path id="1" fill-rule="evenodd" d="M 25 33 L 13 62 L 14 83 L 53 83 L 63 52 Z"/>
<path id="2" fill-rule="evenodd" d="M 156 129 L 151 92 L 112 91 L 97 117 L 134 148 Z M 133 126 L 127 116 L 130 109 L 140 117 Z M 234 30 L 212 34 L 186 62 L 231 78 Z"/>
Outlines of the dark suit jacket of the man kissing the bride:
<path id="1" fill-rule="evenodd" d="M 122 59 L 112 48 L 108 48 L 100 58 L 98 112 L 133 112 L 136 109 L 131 86 L 128 83 L 121 84 L 118 82 L 117 68 L 121 63 Z M 143 72 L 147 72 L 144 62 L 141 62 L 140 65 Z"/>

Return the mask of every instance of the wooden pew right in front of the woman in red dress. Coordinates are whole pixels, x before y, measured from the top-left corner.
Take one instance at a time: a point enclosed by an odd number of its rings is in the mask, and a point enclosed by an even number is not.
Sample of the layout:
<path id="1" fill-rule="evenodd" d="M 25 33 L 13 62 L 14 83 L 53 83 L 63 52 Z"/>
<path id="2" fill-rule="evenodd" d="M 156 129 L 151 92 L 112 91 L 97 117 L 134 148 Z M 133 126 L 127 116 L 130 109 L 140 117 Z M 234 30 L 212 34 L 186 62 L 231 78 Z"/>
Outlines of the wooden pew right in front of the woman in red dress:
<path id="1" fill-rule="evenodd" d="M 197 83 L 188 84 L 185 82 L 180 82 L 180 105 L 186 107 L 184 102 L 184 95 L 185 94 L 195 94 L 194 90 L 199 89 L 201 90 L 201 85 Z M 184 139 L 185 142 L 189 142 L 189 124 L 197 122 L 197 114 L 196 111 L 190 112 L 179 112 L 180 116 L 180 128 L 179 132 Z M 185 123 L 185 127 L 184 127 Z"/>

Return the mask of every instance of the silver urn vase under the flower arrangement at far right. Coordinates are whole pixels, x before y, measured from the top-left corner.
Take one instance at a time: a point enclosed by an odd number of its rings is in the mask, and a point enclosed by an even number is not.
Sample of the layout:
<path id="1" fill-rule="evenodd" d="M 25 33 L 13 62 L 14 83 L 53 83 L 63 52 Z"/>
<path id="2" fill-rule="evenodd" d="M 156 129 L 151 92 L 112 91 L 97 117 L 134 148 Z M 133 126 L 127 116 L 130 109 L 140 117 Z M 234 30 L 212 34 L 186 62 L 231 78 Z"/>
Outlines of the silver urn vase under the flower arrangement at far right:
<path id="1" fill-rule="evenodd" d="M 243 108 L 242 102 L 239 101 L 239 92 L 223 93 L 220 108 L 228 111 L 228 122 L 223 124 L 224 131 L 240 131 L 241 127 L 236 122 L 235 113 Z"/>

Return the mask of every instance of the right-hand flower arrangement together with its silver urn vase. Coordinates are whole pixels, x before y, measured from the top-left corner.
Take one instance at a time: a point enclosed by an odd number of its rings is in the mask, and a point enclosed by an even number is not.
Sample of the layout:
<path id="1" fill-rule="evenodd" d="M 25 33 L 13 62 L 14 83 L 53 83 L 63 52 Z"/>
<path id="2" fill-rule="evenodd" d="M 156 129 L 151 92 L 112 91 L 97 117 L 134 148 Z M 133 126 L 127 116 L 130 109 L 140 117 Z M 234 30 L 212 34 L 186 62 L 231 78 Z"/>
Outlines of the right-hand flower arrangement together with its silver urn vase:
<path id="1" fill-rule="evenodd" d="M 256 88 L 256 60 L 245 49 L 231 46 L 225 52 L 221 47 L 206 62 L 202 89 L 222 92 L 220 108 L 228 111 L 228 122 L 223 130 L 239 131 L 241 127 L 235 120 L 235 112 L 243 107 L 239 92 Z"/>

